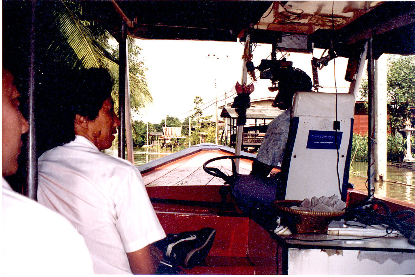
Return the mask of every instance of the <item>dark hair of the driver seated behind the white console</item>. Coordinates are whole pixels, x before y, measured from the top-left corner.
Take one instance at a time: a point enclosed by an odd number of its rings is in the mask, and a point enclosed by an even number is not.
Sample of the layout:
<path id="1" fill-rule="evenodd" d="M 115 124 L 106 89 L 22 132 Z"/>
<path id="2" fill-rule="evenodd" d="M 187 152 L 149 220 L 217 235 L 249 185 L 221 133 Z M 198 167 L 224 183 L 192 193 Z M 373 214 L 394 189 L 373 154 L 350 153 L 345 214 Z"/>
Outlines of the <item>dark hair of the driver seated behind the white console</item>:
<path id="1" fill-rule="evenodd" d="M 310 76 L 301 69 L 294 68 L 278 81 L 278 94 L 272 106 L 286 110 L 291 107 L 293 96 L 297 91 L 311 91 L 311 88 Z"/>

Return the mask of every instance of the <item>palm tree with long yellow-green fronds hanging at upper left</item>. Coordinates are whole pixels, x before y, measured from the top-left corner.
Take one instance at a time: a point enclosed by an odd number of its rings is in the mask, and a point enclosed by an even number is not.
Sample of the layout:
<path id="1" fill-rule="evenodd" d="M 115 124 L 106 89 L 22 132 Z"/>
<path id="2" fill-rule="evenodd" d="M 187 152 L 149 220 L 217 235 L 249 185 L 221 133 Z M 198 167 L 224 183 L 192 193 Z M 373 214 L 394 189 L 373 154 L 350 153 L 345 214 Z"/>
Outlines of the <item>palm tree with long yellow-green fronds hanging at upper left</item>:
<path id="1" fill-rule="evenodd" d="M 82 1 L 81 1 L 82 2 Z M 114 77 L 115 86 L 112 96 L 116 103 L 118 99 L 118 62 L 106 49 L 111 35 L 95 22 L 83 21 L 77 14 L 81 14 L 81 2 L 58 1 L 52 2 L 51 8 L 55 16 L 55 24 L 67 44 L 54 41 L 48 49 L 48 55 L 66 55 L 64 59 L 71 67 L 84 68 L 103 67 L 108 69 Z M 132 39 L 129 39 L 132 44 Z M 63 46 L 68 45 L 66 49 Z M 129 73 L 131 106 L 134 109 L 145 107 L 152 103 L 149 88 L 141 78 Z"/>

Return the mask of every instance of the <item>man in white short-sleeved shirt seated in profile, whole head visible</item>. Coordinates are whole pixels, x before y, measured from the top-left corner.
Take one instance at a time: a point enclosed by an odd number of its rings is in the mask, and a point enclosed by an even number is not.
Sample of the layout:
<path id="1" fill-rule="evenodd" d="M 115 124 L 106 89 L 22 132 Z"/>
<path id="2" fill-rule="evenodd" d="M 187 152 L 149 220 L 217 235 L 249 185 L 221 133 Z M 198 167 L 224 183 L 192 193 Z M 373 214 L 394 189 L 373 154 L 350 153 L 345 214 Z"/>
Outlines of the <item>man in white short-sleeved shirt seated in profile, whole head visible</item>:
<path id="1" fill-rule="evenodd" d="M 75 101 L 68 118 L 72 126 L 68 127 L 68 140 L 72 141 L 39 158 L 38 201 L 76 226 L 92 255 L 95 273 L 154 274 L 163 253 L 152 243 L 166 235 L 141 174 L 133 164 L 100 152 L 111 147 L 120 125 L 111 98 L 110 74 L 89 69 L 75 79 L 71 91 Z M 215 230 L 208 231 L 206 238 L 195 240 L 200 243 L 195 248 L 203 245 L 202 251 L 195 251 L 202 256 L 207 255 L 215 235 Z M 172 236 L 166 241 L 158 245 L 180 245 Z M 200 257 L 199 253 L 187 253 L 184 265 L 192 256 Z"/>

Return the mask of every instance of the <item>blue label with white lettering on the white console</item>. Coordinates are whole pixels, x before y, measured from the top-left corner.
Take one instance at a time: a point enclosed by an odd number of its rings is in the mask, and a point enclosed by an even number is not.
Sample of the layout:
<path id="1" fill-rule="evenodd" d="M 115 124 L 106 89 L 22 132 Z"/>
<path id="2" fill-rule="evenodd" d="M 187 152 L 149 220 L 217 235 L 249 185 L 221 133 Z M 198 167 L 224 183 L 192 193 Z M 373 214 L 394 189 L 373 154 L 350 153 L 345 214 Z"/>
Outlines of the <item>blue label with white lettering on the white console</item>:
<path id="1" fill-rule="evenodd" d="M 310 149 L 339 149 L 342 133 L 337 131 L 308 131 L 307 148 Z M 337 140 L 337 147 L 336 147 Z"/>

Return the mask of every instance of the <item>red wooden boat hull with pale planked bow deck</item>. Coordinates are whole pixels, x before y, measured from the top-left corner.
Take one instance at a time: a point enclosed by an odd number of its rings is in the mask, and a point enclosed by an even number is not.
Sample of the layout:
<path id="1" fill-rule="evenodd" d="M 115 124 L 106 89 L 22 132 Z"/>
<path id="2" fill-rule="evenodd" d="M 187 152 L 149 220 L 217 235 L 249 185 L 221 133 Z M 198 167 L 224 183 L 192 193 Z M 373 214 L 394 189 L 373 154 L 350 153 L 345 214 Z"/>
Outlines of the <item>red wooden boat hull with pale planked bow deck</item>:
<path id="1" fill-rule="evenodd" d="M 282 274 L 283 254 L 270 231 L 243 214 L 228 197 L 222 203 L 220 189 L 224 181 L 203 171 L 203 164 L 214 157 L 231 156 L 234 149 L 209 143 L 195 145 L 139 166 L 156 214 L 166 233 L 217 230 L 205 266 L 185 270 L 188 274 Z M 242 152 L 243 155 L 254 155 Z M 231 162 L 210 164 L 227 174 Z M 275 169 L 274 169 L 275 170 Z M 251 161 L 240 161 L 240 173 L 249 174 Z M 367 197 L 363 191 L 349 189 L 349 203 Z M 391 211 L 412 210 L 415 205 L 381 198 Z M 415 223 L 415 218 L 409 222 Z"/>

